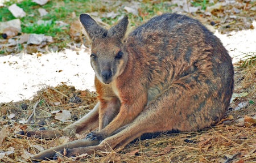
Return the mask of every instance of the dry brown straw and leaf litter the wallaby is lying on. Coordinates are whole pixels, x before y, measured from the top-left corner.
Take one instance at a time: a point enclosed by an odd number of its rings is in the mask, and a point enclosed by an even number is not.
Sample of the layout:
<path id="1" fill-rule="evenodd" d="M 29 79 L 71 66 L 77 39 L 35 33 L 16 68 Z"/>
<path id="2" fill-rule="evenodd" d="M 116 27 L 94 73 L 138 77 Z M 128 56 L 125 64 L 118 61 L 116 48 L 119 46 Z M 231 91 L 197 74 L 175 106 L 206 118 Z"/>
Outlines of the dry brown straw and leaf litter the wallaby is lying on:
<path id="1" fill-rule="evenodd" d="M 255 124 L 244 124 L 241 119 L 248 115 L 255 116 L 256 101 L 256 67 L 241 67 L 243 62 L 236 65 L 235 92 L 247 92 L 246 97 L 237 98 L 230 104 L 234 108 L 241 102 L 249 105 L 238 111 L 229 109 L 228 118 L 221 123 L 204 131 L 193 133 L 180 133 L 162 135 L 159 138 L 137 141 L 123 149 L 115 149 L 110 152 L 98 151 L 97 155 L 85 156 L 76 162 L 256 162 L 256 127 Z M 70 99 L 79 97 L 80 102 L 72 102 Z M 32 125 L 20 125 L 18 120 L 28 118 L 35 103 L 39 101 L 35 109 Z M 253 101 L 254 104 L 250 104 Z M 60 102 L 60 105 L 55 105 Z M 253 103 L 251 102 L 251 103 Z M 28 109 L 20 108 L 26 103 Z M 32 101 L 21 101 L 1 106 L 1 128 L 3 143 L 0 151 L 14 151 L 5 156 L 0 162 L 26 162 L 27 155 L 39 152 L 40 147 L 48 149 L 73 139 L 59 138 L 52 140 L 40 140 L 35 138 L 17 138 L 14 132 L 23 130 L 38 130 L 44 125 L 47 129 L 60 129 L 72 122 L 59 122 L 49 113 L 53 110 L 70 110 L 72 118 L 81 118 L 96 104 L 96 95 L 88 91 L 76 91 L 73 87 L 60 85 L 56 88 L 48 88 L 38 93 Z M 13 120 L 7 119 L 7 115 L 15 113 Z M 239 120 L 239 121 L 238 121 Z M 6 126 L 7 128 L 5 128 Z M 5 132 L 3 132 L 5 130 Z M 1 144 L 0 136 L 0 144 Z M 80 135 L 83 137 L 84 135 Z M 78 137 L 80 137 L 78 135 Z M 78 138 L 76 138 L 78 139 Z M 0 152 L 1 153 L 1 152 Z M 59 158 L 56 161 L 43 162 L 72 162 L 72 158 Z"/>

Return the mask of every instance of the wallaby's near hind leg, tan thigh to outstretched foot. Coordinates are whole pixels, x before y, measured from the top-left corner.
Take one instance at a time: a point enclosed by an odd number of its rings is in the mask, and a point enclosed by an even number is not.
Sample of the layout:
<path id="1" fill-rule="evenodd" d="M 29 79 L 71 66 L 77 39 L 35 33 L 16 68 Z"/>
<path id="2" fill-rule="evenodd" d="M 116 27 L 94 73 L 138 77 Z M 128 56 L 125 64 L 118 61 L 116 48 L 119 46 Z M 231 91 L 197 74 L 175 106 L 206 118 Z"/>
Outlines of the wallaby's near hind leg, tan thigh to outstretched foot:
<path id="1" fill-rule="evenodd" d="M 196 86 L 195 86 L 196 87 Z M 187 91 L 188 87 L 183 87 L 180 84 L 174 84 L 172 88 L 160 95 L 156 100 L 151 101 L 148 106 L 134 119 L 129 125 L 126 125 L 123 130 L 117 134 L 104 139 L 99 145 L 84 148 L 73 148 L 68 151 L 67 157 L 75 156 L 76 154 L 88 153 L 93 154 L 95 150 L 109 150 L 113 148 L 123 147 L 130 141 L 138 138 L 148 132 L 162 132 L 170 130 L 179 131 L 195 131 L 199 128 L 207 127 L 214 123 L 213 119 L 216 116 L 222 116 L 224 106 L 221 113 L 212 114 L 213 106 L 207 105 L 208 100 L 212 100 L 209 95 L 205 101 L 201 96 L 202 92 L 193 92 L 192 89 Z M 178 91 L 176 91 L 178 90 Z M 193 97 L 196 97 L 193 99 Z M 189 101 L 188 99 L 193 99 Z M 188 108 L 185 101 L 191 102 Z M 203 101 L 203 102 L 202 102 Z M 216 104 L 217 105 L 217 104 Z M 216 109 L 215 109 L 216 110 Z M 207 119 L 207 121 L 206 121 Z"/>

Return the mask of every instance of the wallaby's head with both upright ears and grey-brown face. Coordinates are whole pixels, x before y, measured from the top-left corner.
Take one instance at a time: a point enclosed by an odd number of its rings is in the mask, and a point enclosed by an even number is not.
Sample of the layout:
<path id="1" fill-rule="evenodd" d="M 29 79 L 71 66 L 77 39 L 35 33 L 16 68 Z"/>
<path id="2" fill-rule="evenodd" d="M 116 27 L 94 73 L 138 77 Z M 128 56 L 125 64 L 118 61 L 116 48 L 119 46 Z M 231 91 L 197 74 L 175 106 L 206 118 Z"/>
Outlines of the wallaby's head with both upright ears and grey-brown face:
<path id="1" fill-rule="evenodd" d="M 127 19 L 125 16 L 118 24 L 107 30 L 98 25 L 89 15 L 80 15 L 80 22 L 92 40 L 90 63 L 102 83 L 109 84 L 117 78 L 127 64 L 128 56 L 122 42 L 129 23 Z"/>

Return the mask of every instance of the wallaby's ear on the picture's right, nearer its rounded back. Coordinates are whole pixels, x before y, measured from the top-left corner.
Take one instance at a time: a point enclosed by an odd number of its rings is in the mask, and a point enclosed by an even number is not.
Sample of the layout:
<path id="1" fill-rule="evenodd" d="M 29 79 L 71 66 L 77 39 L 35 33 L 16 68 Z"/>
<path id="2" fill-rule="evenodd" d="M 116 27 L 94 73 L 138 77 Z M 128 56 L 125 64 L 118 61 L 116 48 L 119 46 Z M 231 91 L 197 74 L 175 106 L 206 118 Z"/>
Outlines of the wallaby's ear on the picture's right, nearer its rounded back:
<path id="1" fill-rule="evenodd" d="M 117 37 L 120 40 L 123 40 L 123 37 L 125 37 L 127 25 L 128 25 L 128 17 L 127 15 L 118 22 L 118 24 L 114 25 L 112 28 L 108 31 L 108 37 Z"/>

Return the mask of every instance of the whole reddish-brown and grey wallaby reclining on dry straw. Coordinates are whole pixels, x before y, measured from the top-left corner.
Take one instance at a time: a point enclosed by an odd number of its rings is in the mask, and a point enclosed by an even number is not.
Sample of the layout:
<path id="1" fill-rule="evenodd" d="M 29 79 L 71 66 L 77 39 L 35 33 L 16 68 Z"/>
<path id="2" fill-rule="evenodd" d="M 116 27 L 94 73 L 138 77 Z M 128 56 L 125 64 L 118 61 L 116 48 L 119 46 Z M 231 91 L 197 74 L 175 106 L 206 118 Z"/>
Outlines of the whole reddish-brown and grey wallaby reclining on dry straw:
<path id="1" fill-rule="evenodd" d="M 47 138 L 99 130 L 34 159 L 52 157 L 64 147 L 71 148 L 67 157 L 90 155 L 123 147 L 145 133 L 196 131 L 220 121 L 233 92 L 232 60 L 199 21 L 163 14 L 127 38 L 127 16 L 109 30 L 86 14 L 80 21 L 92 40 L 98 104 L 63 131 L 28 134 Z"/>

